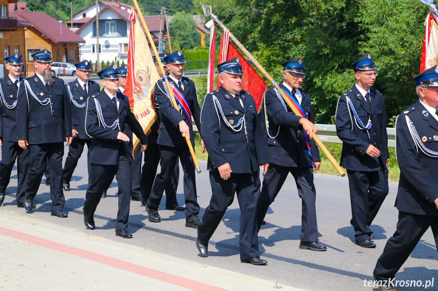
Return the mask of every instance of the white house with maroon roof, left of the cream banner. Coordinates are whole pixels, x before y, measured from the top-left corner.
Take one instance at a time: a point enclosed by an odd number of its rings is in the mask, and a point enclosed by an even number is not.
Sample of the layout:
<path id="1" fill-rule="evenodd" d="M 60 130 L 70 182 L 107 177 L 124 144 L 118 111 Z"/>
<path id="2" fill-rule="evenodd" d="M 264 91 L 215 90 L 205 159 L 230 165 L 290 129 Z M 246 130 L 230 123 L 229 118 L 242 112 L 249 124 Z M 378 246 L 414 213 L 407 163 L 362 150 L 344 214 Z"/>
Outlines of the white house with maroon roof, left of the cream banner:
<path id="1" fill-rule="evenodd" d="M 81 60 L 89 60 L 95 63 L 97 49 L 99 62 L 124 62 L 128 59 L 128 43 L 130 30 L 130 5 L 114 1 L 98 1 L 99 19 L 99 44 L 96 37 L 96 5 L 93 4 L 73 15 L 73 27 L 75 32 L 83 39 L 85 45 L 80 47 Z M 146 24 L 156 45 L 159 41 L 160 31 L 166 30 L 164 17 L 145 16 Z M 70 25 L 71 22 L 68 22 Z M 164 40 L 165 42 L 165 40 Z"/>

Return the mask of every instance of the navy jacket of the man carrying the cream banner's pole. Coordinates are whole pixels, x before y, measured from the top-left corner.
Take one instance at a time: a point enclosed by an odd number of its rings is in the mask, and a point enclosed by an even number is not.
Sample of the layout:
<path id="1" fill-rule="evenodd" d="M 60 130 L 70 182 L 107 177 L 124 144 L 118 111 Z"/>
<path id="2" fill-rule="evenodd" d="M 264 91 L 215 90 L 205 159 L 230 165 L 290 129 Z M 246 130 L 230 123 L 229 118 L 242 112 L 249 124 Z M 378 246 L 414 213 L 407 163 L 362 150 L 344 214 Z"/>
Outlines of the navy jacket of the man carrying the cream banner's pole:
<path id="1" fill-rule="evenodd" d="M 187 103 L 189 104 L 196 127 L 200 129 L 200 109 L 196 97 L 195 84 L 187 77 L 182 77 L 181 81 L 184 86 L 184 92 L 181 93 L 185 96 Z M 169 82 L 172 82 L 178 88 L 177 84 L 175 84 L 174 80 L 170 77 Z M 162 118 L 160 122 L 160 134 L 158 135 L 157 144 L 176 148 L 184 147 L 186 142 L 185 138 L 181 136 L 178 123 L 181 120 L 185 120 L 190 128 L 190 141 L 192 146 L 194 146 L 193 129 L 190 121 L 187 119 L 185 114 L 181 114 L 175 110 L 172 105 L 172 101 L 169 99 L 169 97 L 167 97 L 167 95 L 164 94 L 164 92 L 163 82 L 158 80 L 155 84 L 154 97 L 160 106 Z"/>

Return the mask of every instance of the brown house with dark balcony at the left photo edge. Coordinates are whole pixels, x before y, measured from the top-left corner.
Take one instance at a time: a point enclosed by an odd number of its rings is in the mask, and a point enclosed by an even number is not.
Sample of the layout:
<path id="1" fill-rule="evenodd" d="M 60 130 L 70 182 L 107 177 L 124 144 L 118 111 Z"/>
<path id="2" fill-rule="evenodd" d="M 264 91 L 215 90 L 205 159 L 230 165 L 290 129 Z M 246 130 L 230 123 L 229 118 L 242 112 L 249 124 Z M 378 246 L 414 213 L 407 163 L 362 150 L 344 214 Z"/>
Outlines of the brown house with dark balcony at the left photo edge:
<path id="1" fill-rule="evenodd" d="M 6 58 L 14 53 L 25 55 L 25 40 L 24 30 L 31 27 L 27 21 L 17 18 L 9 13 L 9 5 L 16 5 L 16 0 L 0 0 L 1 17 L 0 17 L 0 48 L 3 50 L 3 58 Z M 3 76 L 9 72 L 3 64 Z M 1 75 L 1 73 L 0 73 Z"/>

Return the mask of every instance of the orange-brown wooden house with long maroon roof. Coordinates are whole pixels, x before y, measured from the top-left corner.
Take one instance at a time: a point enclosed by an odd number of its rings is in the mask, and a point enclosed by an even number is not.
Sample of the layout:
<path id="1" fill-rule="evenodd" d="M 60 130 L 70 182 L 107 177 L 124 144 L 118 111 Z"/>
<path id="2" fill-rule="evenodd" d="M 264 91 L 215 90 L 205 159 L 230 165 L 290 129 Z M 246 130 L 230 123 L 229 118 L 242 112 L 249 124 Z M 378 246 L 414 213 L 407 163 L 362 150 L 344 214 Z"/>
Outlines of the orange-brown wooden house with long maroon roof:
<path id="1" fill-rule="evenodd" d="M 23 50 L 20 52 L 23 61 L 25 60 L 26 75 L 35 72 L 31 55 L 44 49 L 52 52 L 53 62 L 75 64 L 79 61 L 79 46 L 83 45 L 85 40 L 62 22 L 43 12 L 27 11 L 23 2 L 20 2 L 20 5 L 10 5 L 9 14 L 30 25 L 24 31 Z"/>

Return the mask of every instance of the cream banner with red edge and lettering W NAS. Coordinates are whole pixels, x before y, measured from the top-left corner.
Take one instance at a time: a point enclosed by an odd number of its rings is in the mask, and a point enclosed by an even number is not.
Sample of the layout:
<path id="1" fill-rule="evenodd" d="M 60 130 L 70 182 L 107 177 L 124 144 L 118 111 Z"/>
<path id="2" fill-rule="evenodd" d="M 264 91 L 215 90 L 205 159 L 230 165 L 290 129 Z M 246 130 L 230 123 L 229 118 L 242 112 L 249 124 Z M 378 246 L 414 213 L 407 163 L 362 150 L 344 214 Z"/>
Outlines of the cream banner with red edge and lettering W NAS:
<path id="1" fill-rule="evenodd" d="M 160 79 L 155 69 L 152 53 L 146 41 L 145 33 L 136 21 L 136 14 L 131 10 L 129 16 L 131 28 L 129 31 L 128 75 L 124 94 L 129 98 L 133 113 L 139 120 L 146 135 L 157 119 L 155 103 L 152 97 L 155 83 Z M 131 103 L 132 101 L 132 103 Z M 140 140 L 133 135 L 134 149 Z"/>

